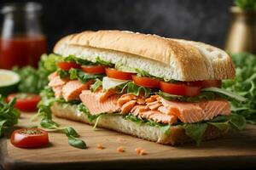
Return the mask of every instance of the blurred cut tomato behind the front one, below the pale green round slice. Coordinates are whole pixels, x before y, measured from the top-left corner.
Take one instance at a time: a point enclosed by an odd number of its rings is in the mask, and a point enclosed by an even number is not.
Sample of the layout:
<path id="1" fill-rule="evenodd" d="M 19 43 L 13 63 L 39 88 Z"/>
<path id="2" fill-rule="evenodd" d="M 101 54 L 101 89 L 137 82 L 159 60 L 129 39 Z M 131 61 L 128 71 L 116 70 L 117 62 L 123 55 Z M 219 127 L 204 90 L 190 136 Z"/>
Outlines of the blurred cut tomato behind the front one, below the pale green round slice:
<path id="1" fill-rule="evenodd" d="M 38 102 L 41 100 L 41 97 L 38 94 L 9 94 L 7 101 L 16 98 L 15 107 L 20 111 L 32 112 L 37 111 Z"/>

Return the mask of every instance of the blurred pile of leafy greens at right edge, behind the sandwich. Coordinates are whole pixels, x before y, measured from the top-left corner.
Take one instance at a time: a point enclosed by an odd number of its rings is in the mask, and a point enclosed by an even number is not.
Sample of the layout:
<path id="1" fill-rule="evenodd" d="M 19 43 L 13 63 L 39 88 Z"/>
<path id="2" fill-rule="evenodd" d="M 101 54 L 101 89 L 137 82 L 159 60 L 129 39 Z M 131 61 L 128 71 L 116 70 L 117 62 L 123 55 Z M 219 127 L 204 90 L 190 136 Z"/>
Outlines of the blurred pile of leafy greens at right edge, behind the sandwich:
<path id="1" fill-rule="evenodd" d="M 236 65 L 236 77 L 224 80 L 223 88 L 247 98 L 247 102 L 232 100 L 231 110 L 244 116 L 248 123 L 256 124 L 256 55 L 234 54 L 232 59 Z"/>

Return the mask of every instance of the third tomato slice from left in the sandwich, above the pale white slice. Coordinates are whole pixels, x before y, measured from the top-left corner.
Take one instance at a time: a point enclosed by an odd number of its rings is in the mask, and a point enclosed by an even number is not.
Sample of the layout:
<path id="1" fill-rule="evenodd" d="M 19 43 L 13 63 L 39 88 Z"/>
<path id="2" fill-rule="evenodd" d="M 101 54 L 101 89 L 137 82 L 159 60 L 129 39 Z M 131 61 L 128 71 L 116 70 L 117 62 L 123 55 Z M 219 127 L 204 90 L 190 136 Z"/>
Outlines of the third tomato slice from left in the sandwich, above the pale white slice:
<path id="1" fill-rule="evenodd" d="M 131 75 L 133 73 L 124 72 L 124 71 L 117 71 L 112 68 L 106 68 L 106 75 L 110 78 L 120 79 L 120 80 L 131 80 Z"/>

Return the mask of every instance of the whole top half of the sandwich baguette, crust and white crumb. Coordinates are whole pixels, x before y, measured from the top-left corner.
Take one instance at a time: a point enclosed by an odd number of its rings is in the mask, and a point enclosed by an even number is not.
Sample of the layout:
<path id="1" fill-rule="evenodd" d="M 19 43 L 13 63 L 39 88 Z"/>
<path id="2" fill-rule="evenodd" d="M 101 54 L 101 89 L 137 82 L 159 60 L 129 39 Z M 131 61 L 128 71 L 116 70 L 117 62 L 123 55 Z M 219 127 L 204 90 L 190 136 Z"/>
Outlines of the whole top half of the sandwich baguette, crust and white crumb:
<path id="1" fill-rule="evenodd" d="M 147 71 L 177 81 L 230 79 L 235 67 L 230 55 L 202 42 L 131 31 L 84 31 L 61 38 L 55 54 L 96 58 Z"/>

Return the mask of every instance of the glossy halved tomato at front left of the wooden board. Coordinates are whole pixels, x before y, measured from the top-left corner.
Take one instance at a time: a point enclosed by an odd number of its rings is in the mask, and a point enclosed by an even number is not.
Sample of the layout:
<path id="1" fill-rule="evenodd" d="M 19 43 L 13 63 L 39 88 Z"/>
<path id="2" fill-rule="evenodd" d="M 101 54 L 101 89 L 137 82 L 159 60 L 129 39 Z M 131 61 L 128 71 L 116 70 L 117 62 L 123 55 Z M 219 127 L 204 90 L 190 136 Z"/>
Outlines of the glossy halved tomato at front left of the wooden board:
<path id="1" fill-rule="evenodd" d="M 12 133 L 10 141 L 19 148 L 39 148 L 49 144 L 49 137 L 40 128 L 21 128 Z"/>

